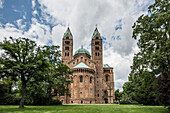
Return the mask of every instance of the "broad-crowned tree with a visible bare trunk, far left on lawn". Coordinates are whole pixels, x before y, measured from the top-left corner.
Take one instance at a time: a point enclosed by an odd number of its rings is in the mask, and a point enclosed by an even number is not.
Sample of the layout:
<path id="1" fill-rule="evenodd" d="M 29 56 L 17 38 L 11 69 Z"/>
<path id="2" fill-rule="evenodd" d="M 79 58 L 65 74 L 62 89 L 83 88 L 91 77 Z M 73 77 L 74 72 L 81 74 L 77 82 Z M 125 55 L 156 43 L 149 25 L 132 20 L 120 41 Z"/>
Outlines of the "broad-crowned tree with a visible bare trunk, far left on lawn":
<path id="1" fill-rule="evenodd" d="M 0 57 L 0 78 L 10 77 L 14 81 L 21 81 L 21 101 L 19 108 L 24 108 L 26 86 L 29 81 L 42 81 L 44 72 L 48 70 L 49 63 L 42 54 L 40 47 L 34 41 L 27 38 L 9 40 L 5 38 L 0 43 L 0 49 L 4 50 Z"/>

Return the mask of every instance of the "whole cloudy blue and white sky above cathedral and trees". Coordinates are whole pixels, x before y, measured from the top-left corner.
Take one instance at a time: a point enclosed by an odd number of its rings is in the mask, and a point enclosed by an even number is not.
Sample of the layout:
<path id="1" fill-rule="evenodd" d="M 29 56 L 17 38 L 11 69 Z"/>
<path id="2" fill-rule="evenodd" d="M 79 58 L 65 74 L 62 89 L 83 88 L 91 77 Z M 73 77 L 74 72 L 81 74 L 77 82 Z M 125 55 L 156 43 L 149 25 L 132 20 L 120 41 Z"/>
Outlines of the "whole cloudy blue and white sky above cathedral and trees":
<path id="1" fill-rule="evenodd" d="M 103 39 L 103 63 L 114 68 L 115 89 L 128 81 L 139 51 L 132 26 L 154 0 L 0 0 L 0 41 L 26 37 L 38 45 L 62 45 L 69 26 L 73 53 L 83 45 L 91 53 L 97 28 Z M 2 53 L 2 51 L 0 52 Z"/>

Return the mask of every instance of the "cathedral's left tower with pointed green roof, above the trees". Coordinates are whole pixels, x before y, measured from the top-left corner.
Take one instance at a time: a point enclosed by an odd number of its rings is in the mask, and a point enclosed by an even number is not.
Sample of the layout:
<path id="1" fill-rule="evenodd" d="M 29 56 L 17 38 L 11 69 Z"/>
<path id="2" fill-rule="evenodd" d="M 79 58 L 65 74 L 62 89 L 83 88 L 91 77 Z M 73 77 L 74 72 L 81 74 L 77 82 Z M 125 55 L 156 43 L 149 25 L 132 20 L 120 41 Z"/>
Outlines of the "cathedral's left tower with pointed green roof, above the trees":
<path id="1" fill-rule="evenodd" d="M 73 56 L 73 35 L 68 27 L 66 32 L 64 33 L 62 43 L 63 64 L 67 64 L 70 60 L 72 60 L 72 56 Z"/>

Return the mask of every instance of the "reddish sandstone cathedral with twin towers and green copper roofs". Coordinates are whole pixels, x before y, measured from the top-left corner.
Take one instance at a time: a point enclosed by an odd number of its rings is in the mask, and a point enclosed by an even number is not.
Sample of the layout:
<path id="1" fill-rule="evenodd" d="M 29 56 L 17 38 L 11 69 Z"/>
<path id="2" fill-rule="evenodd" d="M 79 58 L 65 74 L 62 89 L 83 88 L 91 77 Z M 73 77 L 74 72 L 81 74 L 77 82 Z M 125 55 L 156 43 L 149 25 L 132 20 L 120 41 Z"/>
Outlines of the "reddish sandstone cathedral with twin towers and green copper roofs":
<path id="1" fill-rule="evenodd" d="M 63 104 L 107 104 L 114 101 L 113 67 L 103 64 L 102 37 L 96 27 L 91 38 L 91 54 L 81 47 L 73 54 L 73 35 L 67 28 L 62 39 L 62 60 L 73 72 L 70 97 Z"/>

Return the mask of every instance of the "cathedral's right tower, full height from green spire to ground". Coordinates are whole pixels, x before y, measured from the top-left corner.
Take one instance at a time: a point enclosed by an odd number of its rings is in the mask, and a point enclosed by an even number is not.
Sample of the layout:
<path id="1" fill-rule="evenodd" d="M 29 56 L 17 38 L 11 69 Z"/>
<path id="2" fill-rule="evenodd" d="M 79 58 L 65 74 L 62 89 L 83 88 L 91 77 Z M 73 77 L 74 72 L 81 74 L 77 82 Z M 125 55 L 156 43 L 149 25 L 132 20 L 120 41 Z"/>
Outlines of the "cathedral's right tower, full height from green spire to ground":
<path id="1" fill-rule="evenodd" d="M 95 73 L 95 99 L 96 103 L 102 104 L 103 100 L 103 52 L 102 52 L 102 37 L 96 27 L 92 36 L 92 60 L 96 63 Z"/>

